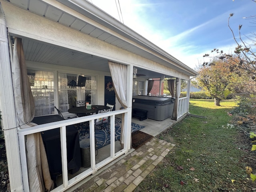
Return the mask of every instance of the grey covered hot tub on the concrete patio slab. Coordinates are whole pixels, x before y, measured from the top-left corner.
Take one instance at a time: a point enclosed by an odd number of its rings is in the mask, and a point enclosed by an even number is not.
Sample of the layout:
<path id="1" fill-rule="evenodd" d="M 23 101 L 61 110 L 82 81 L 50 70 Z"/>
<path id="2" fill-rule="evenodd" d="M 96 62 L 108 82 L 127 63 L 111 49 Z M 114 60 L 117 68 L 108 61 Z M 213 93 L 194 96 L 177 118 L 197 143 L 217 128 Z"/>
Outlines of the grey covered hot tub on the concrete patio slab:
<path id="1" fill-rule="evenodd" d="M 172 116 L 175 98 L 160 96 L 132 96 L 132 108 L 148 111 L 148 118 L 162 121 Z"/>

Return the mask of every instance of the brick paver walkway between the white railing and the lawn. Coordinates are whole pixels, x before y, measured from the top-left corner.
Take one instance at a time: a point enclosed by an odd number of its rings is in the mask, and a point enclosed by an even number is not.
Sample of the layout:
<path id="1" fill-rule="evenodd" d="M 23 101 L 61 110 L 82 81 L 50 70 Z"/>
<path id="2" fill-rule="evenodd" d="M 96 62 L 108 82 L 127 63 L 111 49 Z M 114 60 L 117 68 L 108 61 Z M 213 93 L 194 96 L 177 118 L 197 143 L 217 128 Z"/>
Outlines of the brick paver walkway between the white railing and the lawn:
<path id="1" fill-rule="evenodd" d="M 152 138 L 74 191 L 132 192 L 174 146 Z"/>

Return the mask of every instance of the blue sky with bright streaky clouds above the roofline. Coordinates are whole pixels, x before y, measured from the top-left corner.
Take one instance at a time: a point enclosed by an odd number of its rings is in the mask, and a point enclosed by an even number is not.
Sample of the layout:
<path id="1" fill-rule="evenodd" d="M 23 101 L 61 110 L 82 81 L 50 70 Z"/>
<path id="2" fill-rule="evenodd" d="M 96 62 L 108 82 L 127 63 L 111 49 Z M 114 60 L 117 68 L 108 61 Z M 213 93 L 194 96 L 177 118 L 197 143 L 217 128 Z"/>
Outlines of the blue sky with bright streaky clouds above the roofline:
<path id="1" fill-rule="evenodd" d="M 230 13 L 236 37 L 240 24 L 242 36 L 256 32 L 256 24 L 243 18 L 256 15 L 252 0 L 119 0 L 122 16 L 118 0 L 89 1 L 193 69 L 214 48 L 234 51 Z"/>

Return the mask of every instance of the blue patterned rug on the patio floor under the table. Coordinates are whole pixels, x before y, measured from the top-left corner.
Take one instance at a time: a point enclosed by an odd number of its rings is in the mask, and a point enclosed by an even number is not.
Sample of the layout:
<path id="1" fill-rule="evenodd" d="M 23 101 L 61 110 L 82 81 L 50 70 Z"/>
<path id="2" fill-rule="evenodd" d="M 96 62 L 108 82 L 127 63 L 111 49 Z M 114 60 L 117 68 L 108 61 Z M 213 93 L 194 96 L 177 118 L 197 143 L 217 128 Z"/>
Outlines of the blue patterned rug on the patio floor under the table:
<path id="1" fill-rule="evenodd" d="M 132 132 L 136 130 L 140 130 L 144 128 L 145 126 L 136 124 L 132 122 Z M 78 130 L 79 132 L 79 140 L 90 138 L 89 130 L 88 133 L 85 131 L 85 126 L 83 126 L 83 129 Z M 108 144 L 110 144 L 110 132 L 109 128 L 107 128 L 106 123 L 104 124 L 104 127 L 102 128 L 100 125 L 95 126 L 95 138 L 97 139 L 97 148 L 100 149 Z M 121 119 L 115 118 L 115 140 L 120 139 L 120 132 L 121 132 Z"/>

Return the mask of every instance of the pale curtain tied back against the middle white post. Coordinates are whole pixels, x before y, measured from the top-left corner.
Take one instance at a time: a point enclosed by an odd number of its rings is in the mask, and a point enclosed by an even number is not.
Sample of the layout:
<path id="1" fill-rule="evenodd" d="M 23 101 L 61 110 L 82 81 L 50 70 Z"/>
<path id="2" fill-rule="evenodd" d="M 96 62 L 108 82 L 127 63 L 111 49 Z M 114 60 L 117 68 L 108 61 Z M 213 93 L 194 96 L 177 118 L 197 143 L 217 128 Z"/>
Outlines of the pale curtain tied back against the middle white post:
<path id="1" fill-rule="evenodd" d="M 127 108 L 126 87 L 127 87 L 127 66 L 116 62 L 108 62 L 116 98 L 121 106 Z M 124 114 L 122 116 L 120 144 L 124 146 Z"/>

